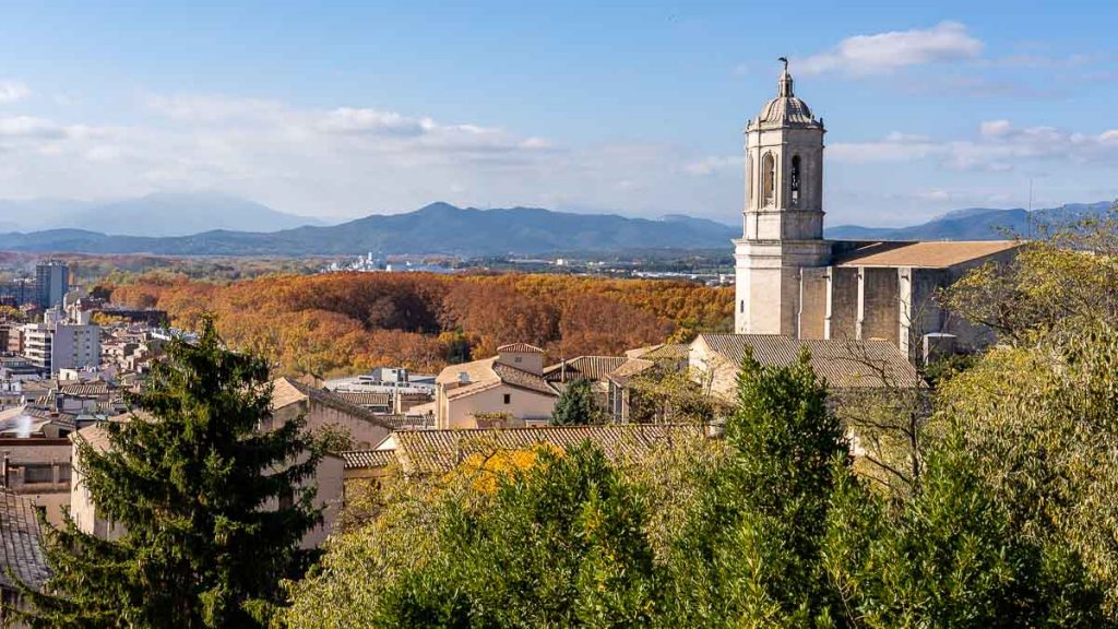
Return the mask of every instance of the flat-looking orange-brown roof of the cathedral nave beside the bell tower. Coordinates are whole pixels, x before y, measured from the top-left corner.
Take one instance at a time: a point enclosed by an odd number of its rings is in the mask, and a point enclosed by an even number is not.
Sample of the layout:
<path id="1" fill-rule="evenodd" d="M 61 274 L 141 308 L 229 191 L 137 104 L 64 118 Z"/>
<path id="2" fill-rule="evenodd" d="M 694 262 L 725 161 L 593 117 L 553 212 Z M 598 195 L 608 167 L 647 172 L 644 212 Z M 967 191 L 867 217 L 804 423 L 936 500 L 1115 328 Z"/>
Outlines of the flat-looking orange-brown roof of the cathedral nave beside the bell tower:
<path id="1" fill-rule="evenodd" d="M 836 266 L 917 266 L 949 269 L 1021 246 L 1018 241 L 883 242 L 858 247 L 835 260 Z"/>

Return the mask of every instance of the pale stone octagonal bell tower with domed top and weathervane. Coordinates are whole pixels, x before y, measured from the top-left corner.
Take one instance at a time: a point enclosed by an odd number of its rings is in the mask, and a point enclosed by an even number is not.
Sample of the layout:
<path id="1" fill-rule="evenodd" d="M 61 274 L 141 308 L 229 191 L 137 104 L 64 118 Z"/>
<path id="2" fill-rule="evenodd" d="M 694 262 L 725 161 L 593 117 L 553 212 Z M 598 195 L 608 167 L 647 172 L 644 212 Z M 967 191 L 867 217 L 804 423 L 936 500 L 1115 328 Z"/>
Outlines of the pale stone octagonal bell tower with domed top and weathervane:
<path id="1" fill-rule="evenodd" d="M 823 120 L 793 90 L 788 60 L 777 95 L 746 125 L 742 235 L 733 241 L 735 331 L 796 336 L 799 270 L 824 266 Z"/>

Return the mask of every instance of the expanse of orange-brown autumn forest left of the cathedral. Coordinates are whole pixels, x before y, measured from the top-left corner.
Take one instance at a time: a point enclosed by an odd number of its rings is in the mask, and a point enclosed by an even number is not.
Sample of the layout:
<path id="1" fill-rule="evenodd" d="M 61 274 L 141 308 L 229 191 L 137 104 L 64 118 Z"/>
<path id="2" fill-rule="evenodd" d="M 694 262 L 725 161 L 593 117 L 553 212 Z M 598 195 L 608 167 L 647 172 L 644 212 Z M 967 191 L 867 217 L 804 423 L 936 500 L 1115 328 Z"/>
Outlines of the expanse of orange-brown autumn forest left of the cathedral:
<path id="1" fill-rule="evenodd" d="M 280 373 L 331 376 L 381 365 L 436 372 L 537 345 L 551 360 L 618 355 L 699 331 L 728 331 L 733 289 L 688 281 L 550 274 L 275 274 L 207 282 L 149 273 L 110 282 L 112 300 L 167 310 L 196 329 L 212 314 L 231 347 Z"/>

